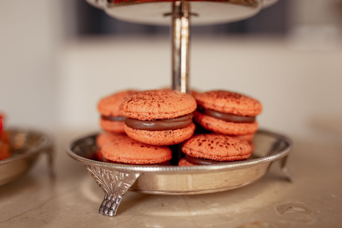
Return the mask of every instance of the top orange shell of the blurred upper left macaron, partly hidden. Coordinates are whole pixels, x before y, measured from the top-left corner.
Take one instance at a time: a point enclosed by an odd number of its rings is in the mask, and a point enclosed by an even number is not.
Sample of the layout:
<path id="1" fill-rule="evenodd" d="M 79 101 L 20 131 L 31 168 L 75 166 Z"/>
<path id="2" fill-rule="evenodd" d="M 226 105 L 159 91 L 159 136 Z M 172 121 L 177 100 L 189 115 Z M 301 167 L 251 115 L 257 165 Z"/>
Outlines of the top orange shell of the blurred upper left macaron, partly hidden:
<path id="1" fill-rule="evenodd" d="M 123 91 L 111 96 L 105 97 L 100 100 L 97 105 L 97 110 L 103 116 L 123 116 L 122 110 L 120 110 L 120 104 L 123 98 L 130 94 L 134 94 L 136 91 Z"/>

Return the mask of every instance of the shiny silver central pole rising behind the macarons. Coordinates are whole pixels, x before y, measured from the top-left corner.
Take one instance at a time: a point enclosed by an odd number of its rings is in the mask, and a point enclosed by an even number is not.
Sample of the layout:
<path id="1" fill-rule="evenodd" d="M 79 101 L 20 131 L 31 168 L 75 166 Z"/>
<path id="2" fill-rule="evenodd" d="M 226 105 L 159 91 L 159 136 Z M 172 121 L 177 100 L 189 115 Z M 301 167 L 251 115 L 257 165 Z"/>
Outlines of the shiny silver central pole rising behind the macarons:
<path id="1" fill-rule="evenodd" d="M 189 2 L 172 4 L 172 89 L 189 93 Z"/>

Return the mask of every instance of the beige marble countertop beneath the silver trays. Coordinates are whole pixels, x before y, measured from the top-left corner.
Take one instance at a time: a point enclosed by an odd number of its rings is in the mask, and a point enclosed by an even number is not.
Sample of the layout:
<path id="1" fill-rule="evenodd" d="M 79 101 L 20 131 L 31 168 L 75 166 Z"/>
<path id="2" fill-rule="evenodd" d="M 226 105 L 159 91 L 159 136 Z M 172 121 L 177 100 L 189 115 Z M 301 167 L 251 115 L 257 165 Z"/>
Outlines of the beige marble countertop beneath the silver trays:
<path id="1" fill-rule="evenodd" d="M 27 175 L 0 186 L 0 227 L 341 227 L 340 146 L 295 139 L 288 162 L 293 184 L 274 163 L 259 181 L 224 192 L 128 192 L 116 216 L 107 217 L 98 213 L 103 191 L 83 164 L 65 153 L 75 135 L 57 137 L 55 179 L 41 156 Z"/>

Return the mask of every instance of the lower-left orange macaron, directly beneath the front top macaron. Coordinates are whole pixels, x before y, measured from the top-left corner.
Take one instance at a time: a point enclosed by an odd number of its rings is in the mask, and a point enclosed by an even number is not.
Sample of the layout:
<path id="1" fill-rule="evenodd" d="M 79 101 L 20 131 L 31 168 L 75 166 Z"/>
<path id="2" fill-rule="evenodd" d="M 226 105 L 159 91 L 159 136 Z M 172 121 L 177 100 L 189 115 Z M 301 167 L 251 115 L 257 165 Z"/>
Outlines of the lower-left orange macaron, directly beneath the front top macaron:
<path id="1" fill-rule="evenodd" d="M 128 164 L 156 164 L 171 160 L 172 151 L 165 146 L 152 146 L 128 136 L 110 141 L 102 147 L 104 158 Z"/>

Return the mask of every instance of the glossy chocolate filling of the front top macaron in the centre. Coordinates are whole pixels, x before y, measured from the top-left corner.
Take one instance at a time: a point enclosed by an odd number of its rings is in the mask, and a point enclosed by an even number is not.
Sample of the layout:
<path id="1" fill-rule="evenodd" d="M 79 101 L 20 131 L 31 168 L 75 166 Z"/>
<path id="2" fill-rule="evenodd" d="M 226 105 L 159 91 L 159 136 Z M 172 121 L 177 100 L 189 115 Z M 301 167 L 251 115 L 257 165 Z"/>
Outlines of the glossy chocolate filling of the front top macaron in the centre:
<path id="1" fill-rule="evenodd" d="M 138 120 L 133 118 L 126 118 L 125 124 L 133 129 L 147 130 L 147 131 L 165 131 L 186 128 L 192 123 L 194 114 L 189 113 L 184 116 L 173 119 L 158 119 L 158 120 Z"/>

